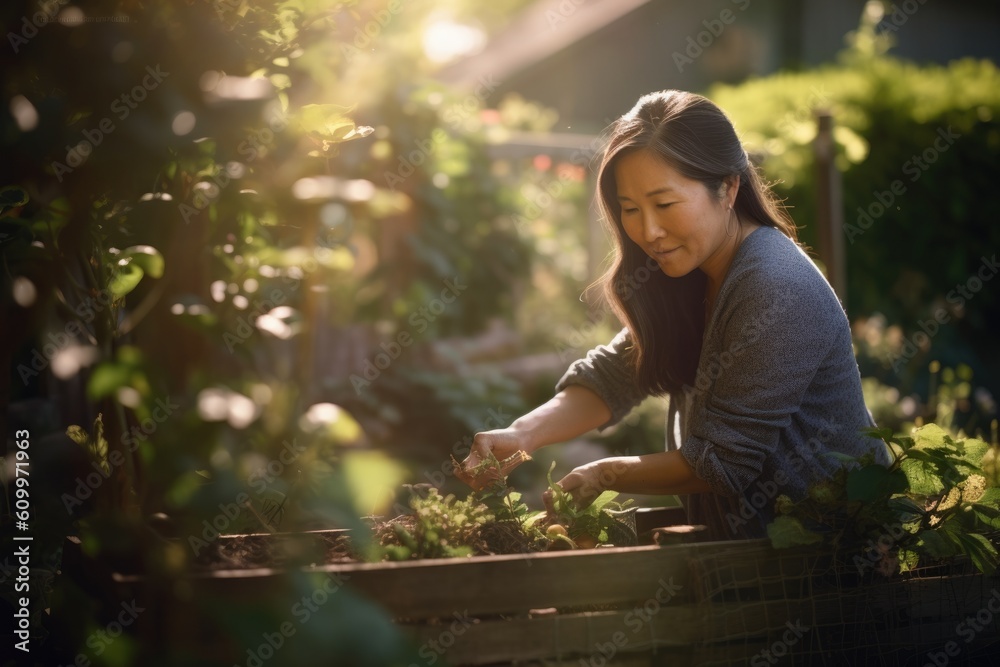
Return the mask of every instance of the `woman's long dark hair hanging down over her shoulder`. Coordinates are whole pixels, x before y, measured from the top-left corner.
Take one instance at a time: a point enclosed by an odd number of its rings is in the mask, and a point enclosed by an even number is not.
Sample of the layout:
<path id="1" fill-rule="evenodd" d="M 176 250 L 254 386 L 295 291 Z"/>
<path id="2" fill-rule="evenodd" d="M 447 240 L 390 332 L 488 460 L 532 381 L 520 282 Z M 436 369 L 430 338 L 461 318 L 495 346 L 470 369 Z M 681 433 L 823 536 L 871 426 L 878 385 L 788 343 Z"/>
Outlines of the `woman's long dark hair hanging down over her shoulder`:
<path id="1" fill-rule="evenodd" d="M 693 384 L 704 333 L 706 277 L 664 274 L 625 233 L 615 165 L 646 149 L 683 176 L 700 181 L 716 200 L 726 179 L 739 176 L 733 209 L 797 240 L 795 224 L 750 162 L 736 130 L 714 103 L 693 93 L 664 90 L 639 99 L 611 127 L 597 176 L 602 218 L 615 239 L 614 261 L 601 278 L 611 309 L 632 333 L 630 361 L 637 386 L 649 393 Z"/>

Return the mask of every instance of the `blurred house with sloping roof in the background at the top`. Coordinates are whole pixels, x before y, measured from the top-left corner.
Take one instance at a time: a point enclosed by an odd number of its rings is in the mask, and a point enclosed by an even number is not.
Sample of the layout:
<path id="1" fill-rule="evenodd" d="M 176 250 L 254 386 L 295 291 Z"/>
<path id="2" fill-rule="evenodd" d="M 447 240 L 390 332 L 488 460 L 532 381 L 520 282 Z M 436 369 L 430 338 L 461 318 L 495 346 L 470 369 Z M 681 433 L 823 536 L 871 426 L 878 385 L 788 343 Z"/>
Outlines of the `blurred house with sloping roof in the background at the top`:
<path id="1" fill-rule="evenodd" d="M 918 62 L 1000 61 L 1000 3 L 899 3 L 881 30 L 893 53 Z M 439 78 L 488 100 L 519 93 L 559 113 L 559 132 L 595 133 L 643 94 L 704 91 L 780 69 L 830 62 L 866 0 L 539 0 L 483 51 Z"/>

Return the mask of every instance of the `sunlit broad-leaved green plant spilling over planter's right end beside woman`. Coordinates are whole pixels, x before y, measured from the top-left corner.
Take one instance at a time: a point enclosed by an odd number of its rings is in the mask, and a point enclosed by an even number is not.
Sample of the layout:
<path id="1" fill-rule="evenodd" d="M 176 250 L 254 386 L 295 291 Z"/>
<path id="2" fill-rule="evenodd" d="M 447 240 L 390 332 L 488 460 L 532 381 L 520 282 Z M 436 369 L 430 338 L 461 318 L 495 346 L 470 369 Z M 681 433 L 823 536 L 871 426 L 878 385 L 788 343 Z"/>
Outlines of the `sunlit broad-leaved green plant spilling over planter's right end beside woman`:
<path id="1" fill-rule="evenodd" d="M 806 498 L 778 496 L 768 536 L 776 548 L 826 542 L 846 550 L 858 571 L 886 576 L 921 562 L 968 557 L 981 572 L 1000 563 L 1000 487 L 996 448 L 949 435 L 936 424 L 910 436 L 873 429 L 893 454 L 883 466 L 873 455 L 831 453 L 844 465 L 832 481 L 814 484 Z M 984 467 L 987 468 L 984 475 Z"/>

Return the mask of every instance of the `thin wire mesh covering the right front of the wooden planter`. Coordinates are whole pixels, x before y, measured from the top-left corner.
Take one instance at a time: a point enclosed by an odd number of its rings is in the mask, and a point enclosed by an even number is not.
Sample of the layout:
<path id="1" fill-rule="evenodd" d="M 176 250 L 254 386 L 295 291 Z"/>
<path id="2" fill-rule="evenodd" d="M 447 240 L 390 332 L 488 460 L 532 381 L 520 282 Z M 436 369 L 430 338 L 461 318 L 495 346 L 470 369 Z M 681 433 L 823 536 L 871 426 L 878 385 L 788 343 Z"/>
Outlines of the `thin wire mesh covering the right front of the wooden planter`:
<path id="1" fill-rule="evenodd" d="M 696 664 L 1000 664 L 998 574 L 956 559 L 885 576 L 852 554 L 772 553 L 721 546 L 690 563 Z"/>

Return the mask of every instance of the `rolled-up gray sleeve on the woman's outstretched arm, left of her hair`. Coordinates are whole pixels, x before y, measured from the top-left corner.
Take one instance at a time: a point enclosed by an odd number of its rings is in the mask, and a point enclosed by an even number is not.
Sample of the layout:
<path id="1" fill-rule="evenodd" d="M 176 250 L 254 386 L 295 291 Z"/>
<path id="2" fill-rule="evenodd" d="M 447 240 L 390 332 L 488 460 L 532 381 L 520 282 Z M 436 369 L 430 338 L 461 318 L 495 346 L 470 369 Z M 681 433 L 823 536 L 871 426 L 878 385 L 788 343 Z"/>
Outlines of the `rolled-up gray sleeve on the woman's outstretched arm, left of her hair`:
<path id="1" fill-rule="evenodd" d="M 599 426 L 598 431 L 617 424 L 647 396 L 636 388 L 626 359 L 631 346 L 628 329 L 622 329 L 610 343 L 598 345 L 586 357 L 570 364 L 556 383 L 557 392 L 569 385 L 580 385 L 600 396 L 611 410 L 611 419 Z"/>

